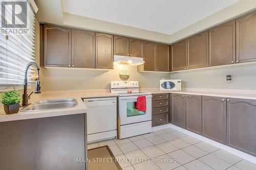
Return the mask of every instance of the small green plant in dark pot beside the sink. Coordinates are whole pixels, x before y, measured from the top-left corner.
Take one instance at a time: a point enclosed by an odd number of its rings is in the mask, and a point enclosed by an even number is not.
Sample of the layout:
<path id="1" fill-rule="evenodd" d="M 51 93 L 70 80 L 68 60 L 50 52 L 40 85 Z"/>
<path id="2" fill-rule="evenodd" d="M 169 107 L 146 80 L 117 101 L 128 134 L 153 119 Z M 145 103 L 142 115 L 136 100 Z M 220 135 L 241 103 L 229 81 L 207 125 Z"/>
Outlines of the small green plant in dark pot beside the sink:
<path id="1" fill-rule="evenodd" d="M 4 105 L 6 114 L 18 113 L 20 100 L 18 90 L 3 92 L 1 102 Z"/>

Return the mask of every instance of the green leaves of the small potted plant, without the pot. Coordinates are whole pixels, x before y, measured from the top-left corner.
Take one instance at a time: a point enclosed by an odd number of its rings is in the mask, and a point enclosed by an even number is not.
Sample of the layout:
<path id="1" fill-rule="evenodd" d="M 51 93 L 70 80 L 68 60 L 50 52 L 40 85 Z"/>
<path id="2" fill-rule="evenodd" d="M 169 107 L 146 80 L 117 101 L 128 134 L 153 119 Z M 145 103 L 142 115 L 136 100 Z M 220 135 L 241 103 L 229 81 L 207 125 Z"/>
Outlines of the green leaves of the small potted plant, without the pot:
<path id="1" fill-rule="evenodd" d="M 5 91 L 2 94 L 2 104 L 3 105 L 14 105 L 20 103 L 20 94 L 18 90 Z"/>

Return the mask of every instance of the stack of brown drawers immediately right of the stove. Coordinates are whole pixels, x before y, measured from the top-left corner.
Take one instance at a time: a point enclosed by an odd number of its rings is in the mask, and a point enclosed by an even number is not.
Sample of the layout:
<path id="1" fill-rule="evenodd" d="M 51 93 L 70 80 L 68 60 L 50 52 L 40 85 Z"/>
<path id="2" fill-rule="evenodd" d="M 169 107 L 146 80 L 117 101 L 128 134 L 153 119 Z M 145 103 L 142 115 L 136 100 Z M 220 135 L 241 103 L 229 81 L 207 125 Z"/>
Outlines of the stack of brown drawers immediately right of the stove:
<path id="1" fill-rule="evenodd" d="M 152 97 L 152 127 L 168 124 L 169 98 L 168 94 L 153 94 Z"/>

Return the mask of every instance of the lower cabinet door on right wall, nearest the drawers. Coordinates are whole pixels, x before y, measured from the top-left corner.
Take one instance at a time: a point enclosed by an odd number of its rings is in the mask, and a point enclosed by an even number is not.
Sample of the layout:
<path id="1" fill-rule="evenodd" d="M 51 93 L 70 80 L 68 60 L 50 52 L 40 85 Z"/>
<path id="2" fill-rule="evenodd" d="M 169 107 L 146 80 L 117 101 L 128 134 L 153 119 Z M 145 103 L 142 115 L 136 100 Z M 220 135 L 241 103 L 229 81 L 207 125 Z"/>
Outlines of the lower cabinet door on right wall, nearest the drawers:
<path id="1" fill-rule="evenodd" d="M 185 97 L 183 94 L 172 94 L 173 124 L 185 129 Z"/>

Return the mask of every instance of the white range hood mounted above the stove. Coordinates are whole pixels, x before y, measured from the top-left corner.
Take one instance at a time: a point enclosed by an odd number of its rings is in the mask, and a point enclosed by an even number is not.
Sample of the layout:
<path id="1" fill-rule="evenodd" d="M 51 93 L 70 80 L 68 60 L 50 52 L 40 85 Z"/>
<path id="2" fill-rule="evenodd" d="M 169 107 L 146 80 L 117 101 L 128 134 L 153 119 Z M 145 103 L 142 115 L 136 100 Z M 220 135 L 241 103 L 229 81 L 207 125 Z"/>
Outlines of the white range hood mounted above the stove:
<path id="1" fill-rule="evenodd" d="M 114 55 L 114 64 L 127 64 L 127 65 L 141 65 L 144 64 L 143 58 L 141 57 L 128 57 Z"/>

